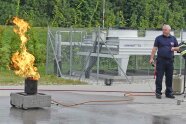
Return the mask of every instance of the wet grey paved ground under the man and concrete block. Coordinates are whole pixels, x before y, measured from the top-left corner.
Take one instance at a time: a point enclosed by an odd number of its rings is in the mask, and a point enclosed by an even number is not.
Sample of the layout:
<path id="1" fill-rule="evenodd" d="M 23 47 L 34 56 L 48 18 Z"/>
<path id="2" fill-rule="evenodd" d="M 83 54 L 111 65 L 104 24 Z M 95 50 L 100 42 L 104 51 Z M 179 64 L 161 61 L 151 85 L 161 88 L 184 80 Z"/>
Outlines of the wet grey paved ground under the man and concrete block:
<path id="1" fill-rule="evenodd" d="M 80 92 L 85 91 L 146 91 L 150 92 L 152 82 L 116 84 L 110 87 L 102 85 L 81 86 L 39 86 L 40 92 L 50 94 L 63 105 L 52 104 L 51 108 L 21 110 L 9 105 L 11 92 L 22 90 L 22 86 L 0 86 L 0 124 L 185 124 L 186 102 L 177 105 L 176 100 L 157 100 L 154 96 L 124 96 L 122 92 Z M 64 90 L 64 91 L 43 91 Z M 68 92 L 67 92 L 68 91 Z M 139 94 L 138 94 L 139 95 Z M 176 99 L 182 99 L 177 96 Z M 121 101 L 131 100 L 132 101 Z M 103 102 L 103 100 L 120 100 Z M 67 106 L 89 102 L 77 106 Z"/>

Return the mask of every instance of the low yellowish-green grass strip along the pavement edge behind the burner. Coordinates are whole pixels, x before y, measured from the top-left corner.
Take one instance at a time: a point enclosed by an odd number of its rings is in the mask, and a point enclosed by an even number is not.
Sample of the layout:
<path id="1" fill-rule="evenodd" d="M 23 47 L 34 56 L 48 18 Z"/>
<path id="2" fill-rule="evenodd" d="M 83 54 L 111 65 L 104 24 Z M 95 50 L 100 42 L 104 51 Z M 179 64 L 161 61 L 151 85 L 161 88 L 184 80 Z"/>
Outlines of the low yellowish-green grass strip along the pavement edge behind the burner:
<path id="1" fill-rule="evenodd" d="M 55 75 L 46 75 L 45 74 L 45 66 L 41 65 L 38 68 L 41 78 L 39 79 L 39 85 L 83 85 L 85 82 L 81 82 L 79 80 L 70 80 L 64 79 L 61 77 L 57 77 Z M 19 77 L 14 74 L 12 70 L 1 70 L 0 71 L 0 85 L 1 86 L 9 86 L 9 85 L 23 85 L 24 78 Z"/>

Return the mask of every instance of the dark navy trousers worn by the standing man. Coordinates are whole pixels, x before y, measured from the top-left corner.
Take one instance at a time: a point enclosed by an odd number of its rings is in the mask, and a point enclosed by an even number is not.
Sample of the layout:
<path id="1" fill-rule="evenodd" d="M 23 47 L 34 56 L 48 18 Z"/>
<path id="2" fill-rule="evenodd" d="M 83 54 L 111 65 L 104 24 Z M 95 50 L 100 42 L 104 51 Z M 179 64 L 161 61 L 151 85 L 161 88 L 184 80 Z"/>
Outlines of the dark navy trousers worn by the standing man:
<path id="1" fill-rule="evenodd" d="M 165 84 L 166 84 L 166 95 L 172 94 L 172 77 L 173 77 L 173 66 L 174 59 L 168 58 L 157 58 L 156 61 L 156 93 L 162 94 L 162 80 L 165 74 Z"/>

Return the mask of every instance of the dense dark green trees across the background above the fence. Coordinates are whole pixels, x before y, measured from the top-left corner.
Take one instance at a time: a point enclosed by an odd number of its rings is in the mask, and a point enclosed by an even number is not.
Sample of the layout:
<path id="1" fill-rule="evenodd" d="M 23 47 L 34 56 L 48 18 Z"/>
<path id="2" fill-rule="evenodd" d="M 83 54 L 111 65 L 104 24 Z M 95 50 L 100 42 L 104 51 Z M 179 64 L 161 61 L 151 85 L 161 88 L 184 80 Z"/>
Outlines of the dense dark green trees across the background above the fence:
<path id="1" fill-rule="evenodd" d="M 0 4 L 2 25 L 11 24 L 16 15 L 39 27 L 102 25 L 103 0 L 6 0 Z M 106 27 L 157 29 L 164 23 L 175 29 L 185 26 L 185 0 L 106 0 L 105 7 Z"/>

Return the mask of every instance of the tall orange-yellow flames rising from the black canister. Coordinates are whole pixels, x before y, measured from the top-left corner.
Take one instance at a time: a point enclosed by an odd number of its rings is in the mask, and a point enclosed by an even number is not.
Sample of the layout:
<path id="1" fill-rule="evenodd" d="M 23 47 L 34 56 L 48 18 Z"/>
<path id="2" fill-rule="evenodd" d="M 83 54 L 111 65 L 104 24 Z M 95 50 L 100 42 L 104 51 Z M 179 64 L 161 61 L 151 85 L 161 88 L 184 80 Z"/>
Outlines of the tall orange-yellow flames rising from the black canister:
<path id="1" fill-rule="evenodd" d="M 13 23 L 14 32 L 19 35 L 21 44 L 20 51 L 15 52 L 11 58 L 11 67 L 16 75 L 32 78 L 33 80 L 38 80 L 40 78 L 37 68 L 34 66 L 35 57 L 27 52 L 26 43 L 28 38 L 26 32 L 30 29 L 30 26 L 23 19 L 14 17 Z"/>

